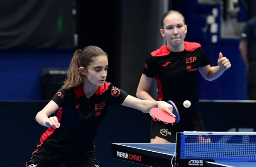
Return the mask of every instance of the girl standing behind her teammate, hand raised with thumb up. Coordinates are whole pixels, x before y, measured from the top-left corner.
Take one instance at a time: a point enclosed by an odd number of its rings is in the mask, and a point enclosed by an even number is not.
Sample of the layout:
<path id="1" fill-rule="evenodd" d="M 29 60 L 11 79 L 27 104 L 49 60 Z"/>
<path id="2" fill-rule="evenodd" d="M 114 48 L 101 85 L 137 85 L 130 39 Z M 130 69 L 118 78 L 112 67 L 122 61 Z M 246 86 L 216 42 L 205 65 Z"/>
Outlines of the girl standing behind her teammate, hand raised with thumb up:
<path id="1" fill-rule="evenodd" d="M 163 125 L 151 121 L 151 143 L 176 142 L 176 132 L 206 131 L 198 111 L 197 75 L 212 81 L 231 67 L 230 61 L 220 53 L 218 66 L 211 67 L 199 43 L 184 41 L 187 25 L 178 11 L 166 12 L 161 20 L 160 32 L 167 44 L 153 51 L 146 59 L 143 74 L 137 88 L 137 97 L 154 100 L 149 94 L 153 78 L 157 80 L 157 101 L 172 100 L 180 113 L 180 122 Z M 191 106 L 183 107 L 189 100 Z"/>

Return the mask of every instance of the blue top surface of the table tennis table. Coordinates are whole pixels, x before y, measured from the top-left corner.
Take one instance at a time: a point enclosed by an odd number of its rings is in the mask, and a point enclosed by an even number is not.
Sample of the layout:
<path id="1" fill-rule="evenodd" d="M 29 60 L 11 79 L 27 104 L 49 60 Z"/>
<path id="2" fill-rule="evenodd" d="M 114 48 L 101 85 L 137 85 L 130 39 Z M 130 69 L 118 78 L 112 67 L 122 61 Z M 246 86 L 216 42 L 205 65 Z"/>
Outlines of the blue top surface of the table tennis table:
<path id="1" fill-rule="evenodd" d="M 115 143 L 126 147 L 133 147 L 140 150 L 148 150 L 151 152 L 163 153 L 173 156 L 175 153 L 175 143 Z M 244 162 L 244 161 L 216 161 L 207 162 L 219 165 L 220 167 L 256 167 L 256 161 Z"/>

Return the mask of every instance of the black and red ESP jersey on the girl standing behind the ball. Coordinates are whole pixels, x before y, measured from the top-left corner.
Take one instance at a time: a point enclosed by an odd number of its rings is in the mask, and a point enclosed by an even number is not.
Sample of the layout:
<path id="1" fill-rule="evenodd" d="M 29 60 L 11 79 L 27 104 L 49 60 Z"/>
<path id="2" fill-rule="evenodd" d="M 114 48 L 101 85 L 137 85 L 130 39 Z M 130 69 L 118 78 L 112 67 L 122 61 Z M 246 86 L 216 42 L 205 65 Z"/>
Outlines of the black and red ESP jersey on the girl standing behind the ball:
<path id="1" fill-rule="evenodd" d="M 201 45 L 185 42 L 185 49 L 172 52 L 163 45 L 146 59 L 143 74 L 155 77 L 158 86 L 157 100 L 172 100 L 180 113 L 180 122 L 199 119 L 197 75 L 198 67 L 210 64 Z M 191 106 L 185 108 L 183 102 L 189 100 Z"/>

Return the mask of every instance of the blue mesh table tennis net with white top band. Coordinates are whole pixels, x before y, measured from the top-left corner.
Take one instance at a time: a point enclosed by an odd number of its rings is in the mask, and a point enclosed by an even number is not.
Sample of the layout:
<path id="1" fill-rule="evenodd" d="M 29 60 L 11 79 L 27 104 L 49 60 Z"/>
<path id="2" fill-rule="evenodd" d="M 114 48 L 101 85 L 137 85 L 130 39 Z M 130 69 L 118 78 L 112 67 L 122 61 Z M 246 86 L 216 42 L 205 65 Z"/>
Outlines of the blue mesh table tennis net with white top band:
<path id="1" fill-rule="evenodd" d="M 256 132 L 181 132 L 181 159 L 256 161 Z"/>

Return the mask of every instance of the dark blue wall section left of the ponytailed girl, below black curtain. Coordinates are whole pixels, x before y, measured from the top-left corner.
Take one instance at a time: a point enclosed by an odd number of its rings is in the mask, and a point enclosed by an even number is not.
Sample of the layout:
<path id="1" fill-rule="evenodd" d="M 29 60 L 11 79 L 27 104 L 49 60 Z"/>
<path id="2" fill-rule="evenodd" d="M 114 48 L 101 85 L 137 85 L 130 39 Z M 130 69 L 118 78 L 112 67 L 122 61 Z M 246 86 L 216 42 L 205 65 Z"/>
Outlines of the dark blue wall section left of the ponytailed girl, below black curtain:
<path id="1" fill-rule="evenodd" d="M 41 100 L 43 68 L 68 68 L 73 49 L 0 50 L 0 100 Z"/>

